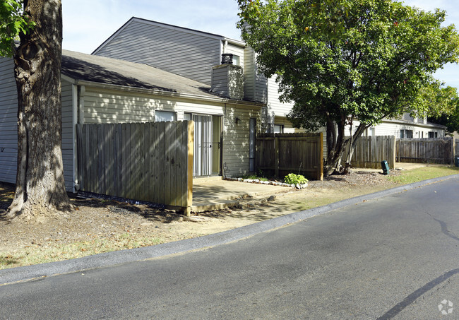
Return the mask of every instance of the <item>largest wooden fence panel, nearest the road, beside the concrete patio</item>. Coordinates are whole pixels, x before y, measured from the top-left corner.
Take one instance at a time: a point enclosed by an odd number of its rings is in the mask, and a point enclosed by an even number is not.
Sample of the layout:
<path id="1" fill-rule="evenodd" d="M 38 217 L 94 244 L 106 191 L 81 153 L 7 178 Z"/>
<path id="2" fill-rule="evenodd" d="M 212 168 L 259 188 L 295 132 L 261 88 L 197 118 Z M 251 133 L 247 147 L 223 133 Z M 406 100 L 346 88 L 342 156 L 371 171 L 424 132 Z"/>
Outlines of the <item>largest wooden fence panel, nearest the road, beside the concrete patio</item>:
<path id="1" fill-rule="evenodd" d="M 78 124 L 82 191 L 162 203 L 189 214 L 192 121 Z"/>

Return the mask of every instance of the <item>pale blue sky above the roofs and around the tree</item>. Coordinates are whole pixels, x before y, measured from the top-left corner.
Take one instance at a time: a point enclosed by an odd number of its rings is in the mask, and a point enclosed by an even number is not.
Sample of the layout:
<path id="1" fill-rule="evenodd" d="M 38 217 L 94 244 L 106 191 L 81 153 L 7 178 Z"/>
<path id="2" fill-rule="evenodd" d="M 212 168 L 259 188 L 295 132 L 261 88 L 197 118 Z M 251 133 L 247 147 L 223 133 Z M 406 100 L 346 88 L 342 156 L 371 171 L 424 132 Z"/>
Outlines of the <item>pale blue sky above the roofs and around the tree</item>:
<path id="1" fill-rule="evenodd" d="M 459 29 L 459 6 L 453 0 L 405 0 L 425 11 L 446 10 L 445 25 Z M 90 54 L 135 16 L 240 40 L 237 0 L 62 0 L 63 48 Z M 436 78 L 459 89 L 459 65 L 448 64 Z"/>

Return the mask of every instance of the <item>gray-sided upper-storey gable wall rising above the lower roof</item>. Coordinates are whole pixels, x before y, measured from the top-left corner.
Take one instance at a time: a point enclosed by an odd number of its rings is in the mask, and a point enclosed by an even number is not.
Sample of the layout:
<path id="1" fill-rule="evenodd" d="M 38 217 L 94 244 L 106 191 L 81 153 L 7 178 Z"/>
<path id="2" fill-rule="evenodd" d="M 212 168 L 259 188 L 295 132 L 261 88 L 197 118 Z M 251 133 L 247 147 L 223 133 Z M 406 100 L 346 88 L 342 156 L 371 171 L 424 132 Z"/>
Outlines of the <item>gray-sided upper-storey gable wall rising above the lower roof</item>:
<path id="1" fill-rule="evenodd" d="M 212 66 L 220 64 L 220 40 L 133 19 L 95 54 L 148 64 L 210 85 Z"/>

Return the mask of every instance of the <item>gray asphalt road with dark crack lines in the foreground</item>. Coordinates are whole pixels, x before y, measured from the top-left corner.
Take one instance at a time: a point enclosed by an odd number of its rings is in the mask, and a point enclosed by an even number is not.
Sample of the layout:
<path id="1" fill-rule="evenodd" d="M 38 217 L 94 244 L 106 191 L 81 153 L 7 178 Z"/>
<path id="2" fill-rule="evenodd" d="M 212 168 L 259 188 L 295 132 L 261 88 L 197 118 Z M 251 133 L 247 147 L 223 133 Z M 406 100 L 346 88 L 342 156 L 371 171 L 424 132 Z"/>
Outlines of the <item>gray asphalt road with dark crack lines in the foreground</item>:
<path id="1" fill-rule="evenodd" d="M 0 319 L 459 319 L 458 194 L 455 176 L 207 249 L 2 285 Z"/>

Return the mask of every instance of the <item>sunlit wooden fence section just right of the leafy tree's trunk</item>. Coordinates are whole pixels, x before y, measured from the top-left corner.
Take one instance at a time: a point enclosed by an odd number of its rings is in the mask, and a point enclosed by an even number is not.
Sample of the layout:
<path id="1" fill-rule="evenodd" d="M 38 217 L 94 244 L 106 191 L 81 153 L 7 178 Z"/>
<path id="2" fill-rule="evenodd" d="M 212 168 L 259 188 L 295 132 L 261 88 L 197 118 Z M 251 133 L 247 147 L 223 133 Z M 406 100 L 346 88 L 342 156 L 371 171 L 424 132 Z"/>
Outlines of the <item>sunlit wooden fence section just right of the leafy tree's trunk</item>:
<path id="1" fill-rule="evenodd" d="M 348 150 L 345 151 L 345 157 Z M 395 136 L 361 136 L 356 141 L 351 158 L 352 167 L 381 169 L 383 160 L 390 168 L 395 167 Z"/>

